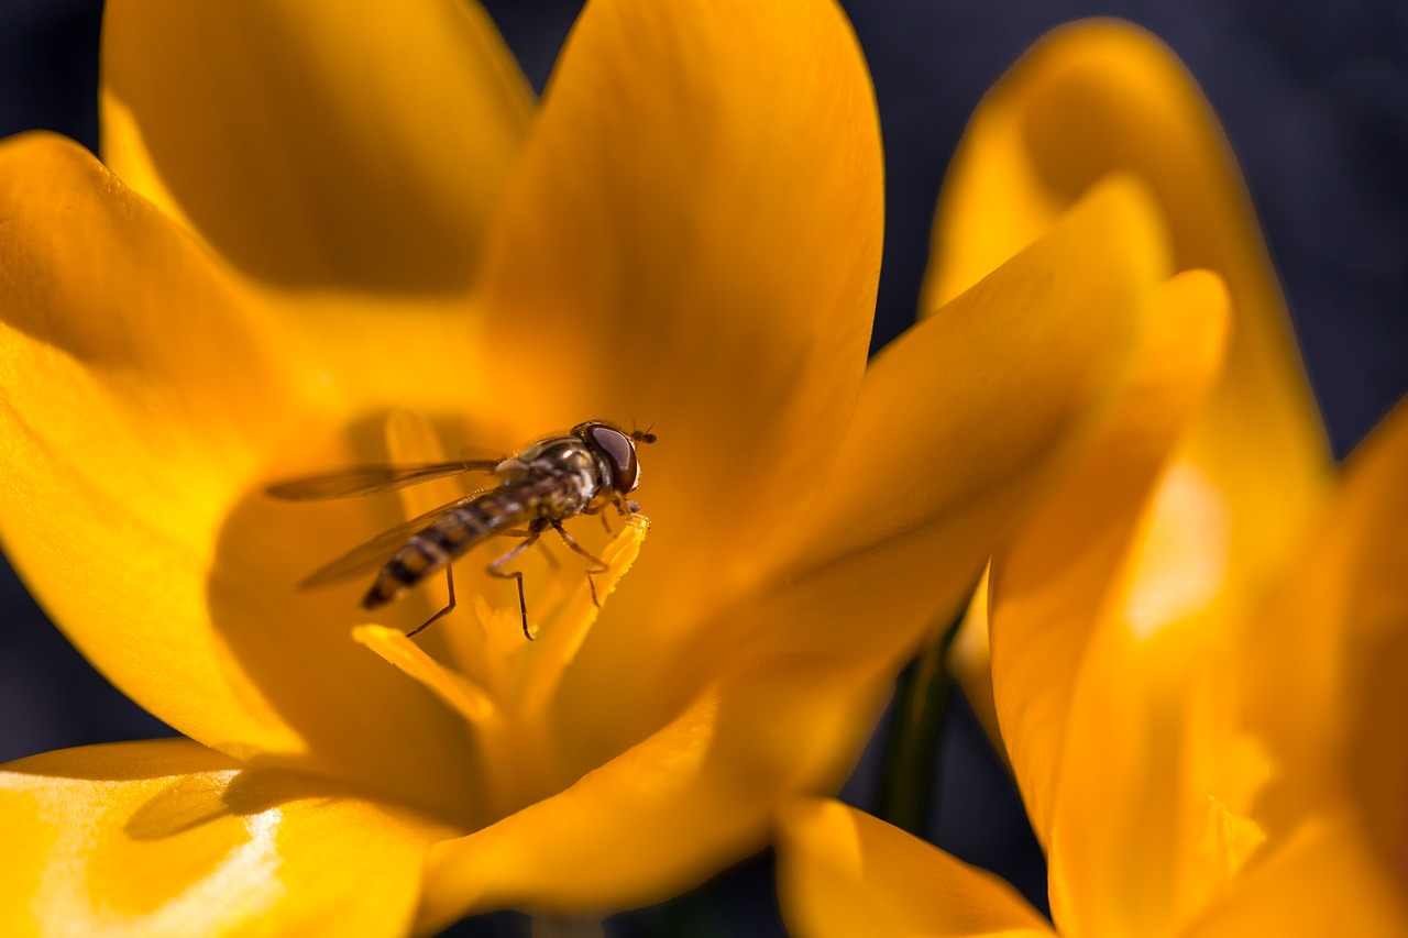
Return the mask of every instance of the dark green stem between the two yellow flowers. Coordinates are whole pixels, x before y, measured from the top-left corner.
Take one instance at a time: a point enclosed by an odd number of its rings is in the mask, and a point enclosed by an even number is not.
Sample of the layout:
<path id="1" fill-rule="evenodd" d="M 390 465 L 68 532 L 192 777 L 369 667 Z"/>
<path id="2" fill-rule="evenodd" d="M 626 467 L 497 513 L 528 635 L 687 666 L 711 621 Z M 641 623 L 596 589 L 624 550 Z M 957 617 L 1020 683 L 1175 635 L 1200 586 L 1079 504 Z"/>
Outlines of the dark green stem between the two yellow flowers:
<path id="1" fill-rule="evenodd" d="M 886 739 L 876 814 L 921 838 L 928 832 L 936 801 L 931 796 L 952 683 L 945 662 L 962 623 L 960 615 L 931 635 L 919 655 L 900 672 L 894 692 L 894 721 Z"/>

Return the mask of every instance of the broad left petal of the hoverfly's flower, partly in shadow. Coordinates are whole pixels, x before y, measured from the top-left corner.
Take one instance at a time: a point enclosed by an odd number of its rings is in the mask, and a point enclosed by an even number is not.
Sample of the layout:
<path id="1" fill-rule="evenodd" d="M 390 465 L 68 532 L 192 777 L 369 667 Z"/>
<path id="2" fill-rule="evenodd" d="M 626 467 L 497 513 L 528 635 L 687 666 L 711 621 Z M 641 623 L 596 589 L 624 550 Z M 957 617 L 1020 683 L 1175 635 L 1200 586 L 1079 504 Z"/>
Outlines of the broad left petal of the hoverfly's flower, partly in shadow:
<path id="1" fill-rule="evenodd" d="M 422 779 L 465 782 L 462 721 L 293 590 L 348 524 L 280 527 L 258 494 L 269 454 L 313 444 L 248 296 L 52 135 L 0 146 L 0 531 L 55 621 L 206 745 L 449 799 Z"/>

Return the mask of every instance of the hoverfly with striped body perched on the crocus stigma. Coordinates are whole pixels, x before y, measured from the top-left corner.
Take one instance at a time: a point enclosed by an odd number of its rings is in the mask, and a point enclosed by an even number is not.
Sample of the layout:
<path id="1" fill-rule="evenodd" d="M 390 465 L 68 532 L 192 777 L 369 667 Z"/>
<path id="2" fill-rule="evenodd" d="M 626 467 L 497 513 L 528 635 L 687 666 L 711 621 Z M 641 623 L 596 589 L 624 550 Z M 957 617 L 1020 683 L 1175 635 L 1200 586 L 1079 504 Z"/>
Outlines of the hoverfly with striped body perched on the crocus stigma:
<path id="1" fill-rule="evenodd" d="M 434 511 L 398 524 L 366 544 L 311 573 L 301 587 L 322 586 L 380 568 L 372 589 L 362 597 L 362 608 L 377 608 L 398 599 L 431 573 L 445 569 L 449 601 L 407 637 L 424 631 L 455 608 L 455 577 L 451 561 L 494 537 L 518 537 L 522 541 L 491 562 L 486 572 L 518 583 L 518 611 L 524 635 L 528 631 L 528 603 L 524 599 L 524 575 L 505 572 L 504 565 L 532 546 L 548 528 L 558 532 L 573 552 L 591 562 L 587 583 L 597 601 L 593 573 L 607 569 L 604 561 L 577 544 L 562 523 L 579 514 L 598 514 L 607 506 L 621 515 L 631 515 L 641 506 L 625 496 L 641 482 L 636 444 L 652 444 L 649 430 L 625 432 L 601 420 L 577 424 L 563 437 L 549 437 L 507 459 L 459 459 L 408 466 L 353 466 L 339 472 L 293 479 L 270 486 L 276 499 L 303 501 L 379 494 L 407 486 L 444 479 L 463 472 L 487 472 L 498 483 L 484 492 L 470 493 Z M 605 518 L 603 517 L 603 523 Z M 600 606 L 600 603 L 597 601 Z"/>

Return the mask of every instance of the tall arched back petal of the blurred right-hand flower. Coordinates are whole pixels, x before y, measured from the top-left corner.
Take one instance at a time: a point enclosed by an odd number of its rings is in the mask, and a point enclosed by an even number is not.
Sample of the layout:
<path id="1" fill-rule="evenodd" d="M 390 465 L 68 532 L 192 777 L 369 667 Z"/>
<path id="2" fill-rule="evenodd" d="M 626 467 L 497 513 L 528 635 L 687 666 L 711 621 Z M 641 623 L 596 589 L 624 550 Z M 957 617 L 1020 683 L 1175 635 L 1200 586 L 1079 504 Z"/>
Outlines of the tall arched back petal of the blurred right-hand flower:
<path id="1" fill-rule="evenodd" d="M 1129 24 L 1079 23 L 994 86 L 945 182 L 925 310 L 1038 238 L 1111 172 L 1153 193 L 1174 269 L 1211 269 L 1232 296 L 1226 366 L 1184 446 L 1226 506 L 1221 601 L 1240 618 L 1319 510 L 1329 462 L 1245 186 L 1167 48 Z"/>

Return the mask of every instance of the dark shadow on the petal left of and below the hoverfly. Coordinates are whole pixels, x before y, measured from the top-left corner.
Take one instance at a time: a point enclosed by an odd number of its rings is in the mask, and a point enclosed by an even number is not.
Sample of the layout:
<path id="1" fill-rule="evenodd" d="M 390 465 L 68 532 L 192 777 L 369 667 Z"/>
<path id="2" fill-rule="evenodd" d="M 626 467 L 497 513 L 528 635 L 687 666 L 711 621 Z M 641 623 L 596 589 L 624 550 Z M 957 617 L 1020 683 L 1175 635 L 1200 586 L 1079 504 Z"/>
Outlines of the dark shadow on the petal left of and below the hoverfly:
<path id="1" fill-rule="evenodd" d="M 379 434 L 380 418 L 369 418 L 349 437 L 369 441 Z M 322 455 L 300 465 L 358 462 L 325 435 L 322 444 L 317 439 L 310 434 L 301 445 Z M 351 449 L 376 452 L 372 446 L 355 442 Z M 235 503 L 207 577 L 211 628 L 228 655 L 231 684 L 248 689 L 246 708 L 287 725 L 301 745 L 207 742 L 253 762 L 328 775 L 469 825 L 473 783 L 463 720 L 352 638 L 352 627 L 367 621 L 359 600 L 369 580 L 297 587 L 321 562 L 403 520 L 394 499 L 286 503 L 259 487 Z M 420 604 L 428 600 L 413 603 Z M 393 610 L 397 625 L 398 613 Z"/>

